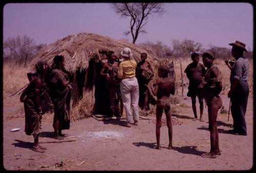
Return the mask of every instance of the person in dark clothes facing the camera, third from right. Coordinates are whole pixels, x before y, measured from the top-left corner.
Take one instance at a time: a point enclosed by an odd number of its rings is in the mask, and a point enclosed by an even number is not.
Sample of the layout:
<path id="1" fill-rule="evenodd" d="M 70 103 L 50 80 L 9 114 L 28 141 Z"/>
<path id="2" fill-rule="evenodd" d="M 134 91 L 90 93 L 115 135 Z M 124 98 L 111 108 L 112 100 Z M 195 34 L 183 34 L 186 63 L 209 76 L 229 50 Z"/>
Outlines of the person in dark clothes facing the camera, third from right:
<path id="1" fill-rule="evenodd" d="M 192 109 L 195 115 L 194 121 L 197 120 L 197 108 L 196 108 L 196 97 L 198 97 L 199 104 L 200 104 L 200 121 L 203 122 L 203 76 L 205 74 L 204 65 L 199 63 L 199 54 L 193 53 L 191 54 L 191 59 L 193 60 L 192 63 L 188 64 L 187 68 L 185 69 L 185 73 L 187 78 L 189 79 L 188 85 L 188 93 L 187 96 L 191 97 L 192 100 Z"/>

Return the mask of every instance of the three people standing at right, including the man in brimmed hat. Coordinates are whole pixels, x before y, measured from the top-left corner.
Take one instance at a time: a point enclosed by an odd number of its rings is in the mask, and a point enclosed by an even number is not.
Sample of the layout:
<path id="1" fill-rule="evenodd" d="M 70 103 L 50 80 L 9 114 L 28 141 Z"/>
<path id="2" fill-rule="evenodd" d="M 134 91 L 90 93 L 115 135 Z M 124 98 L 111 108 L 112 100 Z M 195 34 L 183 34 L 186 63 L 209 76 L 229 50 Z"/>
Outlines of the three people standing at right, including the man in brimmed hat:
<path id="1" fill-rule="evenodd" d="M 249 95 L 248 73 L 249 61 L 243 56 L 245 44 L 236 41 L 231 44 L 231 54 L 235 61 L 225 60 L 226 65 L 230 69 L 230 91 L 228 97 L 231 101 L 231 114 L 233 118 L 233 129 L 229 132 L 234 135 L 247 135 L 245 113 L 247 100 Z M 185 69 L 187 78 L 189 79 L 187 96 L 191 97 L 192 109 L 197 120 L 196 97 L 200 104 L 200 121 L 203 120 L 203 100 L 208 107 L 209 131 L 210 131 L 210 152 L 203 154 L 204 158 L 216 158 L 221 155 L 219 149 L 219 137 L 217 130 L 218 110 L 222 106 L 222 100 L 219 96 L 222 91 L 222 74 L 218 67 L 213 63 L 214 55 L 210 52 L 202 54 L 203 64 L 199 63 L 199 54 L 191 54 L 192 63 L 188 64 Z M 205 67 L 207 70 L 205 70 Z"/>

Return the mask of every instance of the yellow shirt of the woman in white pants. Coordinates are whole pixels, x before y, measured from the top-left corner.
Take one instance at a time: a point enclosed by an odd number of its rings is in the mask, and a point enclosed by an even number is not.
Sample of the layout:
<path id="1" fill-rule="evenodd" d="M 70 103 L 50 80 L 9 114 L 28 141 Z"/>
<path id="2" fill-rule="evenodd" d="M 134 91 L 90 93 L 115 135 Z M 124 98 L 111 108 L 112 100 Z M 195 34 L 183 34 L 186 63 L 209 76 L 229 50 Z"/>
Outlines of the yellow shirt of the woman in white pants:
<path id="1" fill-rule="evenodd" d="M 135 60 L 125 60 L 119 64 L 117 77 L 120 79 L 135 77 L 137 63 Z"/>

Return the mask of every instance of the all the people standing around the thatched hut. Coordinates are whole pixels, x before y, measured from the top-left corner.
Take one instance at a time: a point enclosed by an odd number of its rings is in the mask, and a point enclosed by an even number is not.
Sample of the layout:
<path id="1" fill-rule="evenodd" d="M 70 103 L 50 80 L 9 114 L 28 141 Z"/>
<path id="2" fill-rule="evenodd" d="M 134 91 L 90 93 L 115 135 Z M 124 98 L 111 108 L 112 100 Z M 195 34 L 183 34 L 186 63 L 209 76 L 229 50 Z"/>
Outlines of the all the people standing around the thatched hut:
<path id="1" fill-rule="evenodd" d="M 232 44 L 232 56 L 236 61 L 229 65 L 230 74 L 230 91 L 228 97 L 231 98 L 231 114 L 233 117 L 233 127 L 230 132 L 237 135 L 247 135 L 245 112 L 248 99 L 248 72 L 249 62 L 243 56 L 246 51 L 245 44 L 236 41 Z M 105 78 L 106 88 L 110 99 L 111 116 L 120 116 L 117 112 L 118 101 L 121 100 L 125 109 L 126 124 L 131 127 L 139 124 L 139 106 L 143 115 L 149 109 L 149 103 L 154 102 L 152 95 L 157 96 L 156 101 L 156 139 L 157 149 L 160 149 L 160 127 L 163 111 L 165 112 L 169 144 L 168 148 L 172 149 L 172 116 L 170 112 L 170 94 L 175 94 L 175 80 L 168 77 L 170 68 L 168 66 L 160 66 L 158 68 L 158 78 L 156 83 L 149 85 L 154 76 L 154 68 L 146 61 L 147 54 L 141 54 L 141 62 L 137 62 L 133 58 L 132 50 L 124 48 L 121 52 L 123 61 L 117 62 L 117 56 L 113 51 L 109 51 L 106 56 L 108 61 L 103 64 L 100 75 Z M 222 100 L 219 96 L 222 91 L 222 74 L 216 64 L 214 64 L 215 56 L 210 52 L 202 54 L 203 64 L 199 63 L 200 55 L 193 53 L 191 55 L 192 63 L 188 64 L 185 73 L 189 79 L 189 87 L 187 96 L 191 97 L 192 107 L 195 118 L 197 120 L 196 97 L 200 103 L 200 121 L 203 119 L 203 100 L 208 106 L 209 131 L 210 131 L 210 152 L 203 154 L 204 158 L 216 158 L 221 155 L 219 148 L 219 137 L 217 130 L 218 110 L 222 106 Z M 231 64 L 231 63 L 230 63 Z M 62 139 L 62 129 L 70 127 L 70 98 L 72 84 L 70 83 L 68 72 L 64 68 L 65 59 L 61 55 L 57 55 L 53 59 L 53 64 L 48 68 L 46 62 L 38 62 L 36 64 L 36 72 L 31 74 L 28 89 L 20 97 L 20 101 L 24 102 L 25 107 L 25 132 L 27 135 L 34 136 L 34 145 L 32 147 L 36 152 L 44 152 L 45 147 L 38 143 L 38 133 L 41 129 L 42 107 L 41 100 L 48 99 L 53 103 L 54 107 L 54 137 Z M 207 70 L 205 70 L 205 67 Z M 48 69 L 48 70 L 47 70 Z M 48 96 L 44 96 L 49 93 Z M 42 97 L 44 96 L 44 97 Z M 51 101 L 49 103 L 52 105 Z"/>

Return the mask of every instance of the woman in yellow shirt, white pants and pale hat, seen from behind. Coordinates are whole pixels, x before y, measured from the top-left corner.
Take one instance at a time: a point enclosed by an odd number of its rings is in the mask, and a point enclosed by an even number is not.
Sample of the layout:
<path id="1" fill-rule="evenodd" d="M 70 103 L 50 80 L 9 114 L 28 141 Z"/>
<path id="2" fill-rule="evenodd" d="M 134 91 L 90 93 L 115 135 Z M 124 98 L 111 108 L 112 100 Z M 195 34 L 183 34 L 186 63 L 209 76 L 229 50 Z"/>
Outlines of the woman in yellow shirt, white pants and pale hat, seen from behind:
<path id="1" fill-rule="evenodd" d="M 133 54 L 130 48 L 124 48 L 121 51 L 121 55 L 124 61 L 119 64 L 117 76 L 121 79 L 120 90 L 125 109 L 126 126 L 131 127 L 133 119 L 134 125 L 138 125 L 139 120 L 139 85 L 137 78 L 135 77 L 137 63 L 135 60 L 131 59 Z M 133 118 L 131 105 L 133 109 Z"/>

